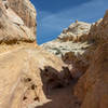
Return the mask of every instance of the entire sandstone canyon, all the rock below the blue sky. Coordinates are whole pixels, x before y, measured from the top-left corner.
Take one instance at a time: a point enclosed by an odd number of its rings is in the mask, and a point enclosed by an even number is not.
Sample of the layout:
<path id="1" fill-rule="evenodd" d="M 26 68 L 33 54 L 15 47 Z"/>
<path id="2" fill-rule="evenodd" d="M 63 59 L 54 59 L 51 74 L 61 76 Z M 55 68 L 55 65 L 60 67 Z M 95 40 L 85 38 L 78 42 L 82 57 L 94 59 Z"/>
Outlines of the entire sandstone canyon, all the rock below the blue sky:
<path id="1" fill-rule="evenodd" d="M 35 44 L 29 0 L 0 0 L 0 108 L 108 108 L 108 11 Z M 63 62 L 63 60 L 64 62 Z"/>

